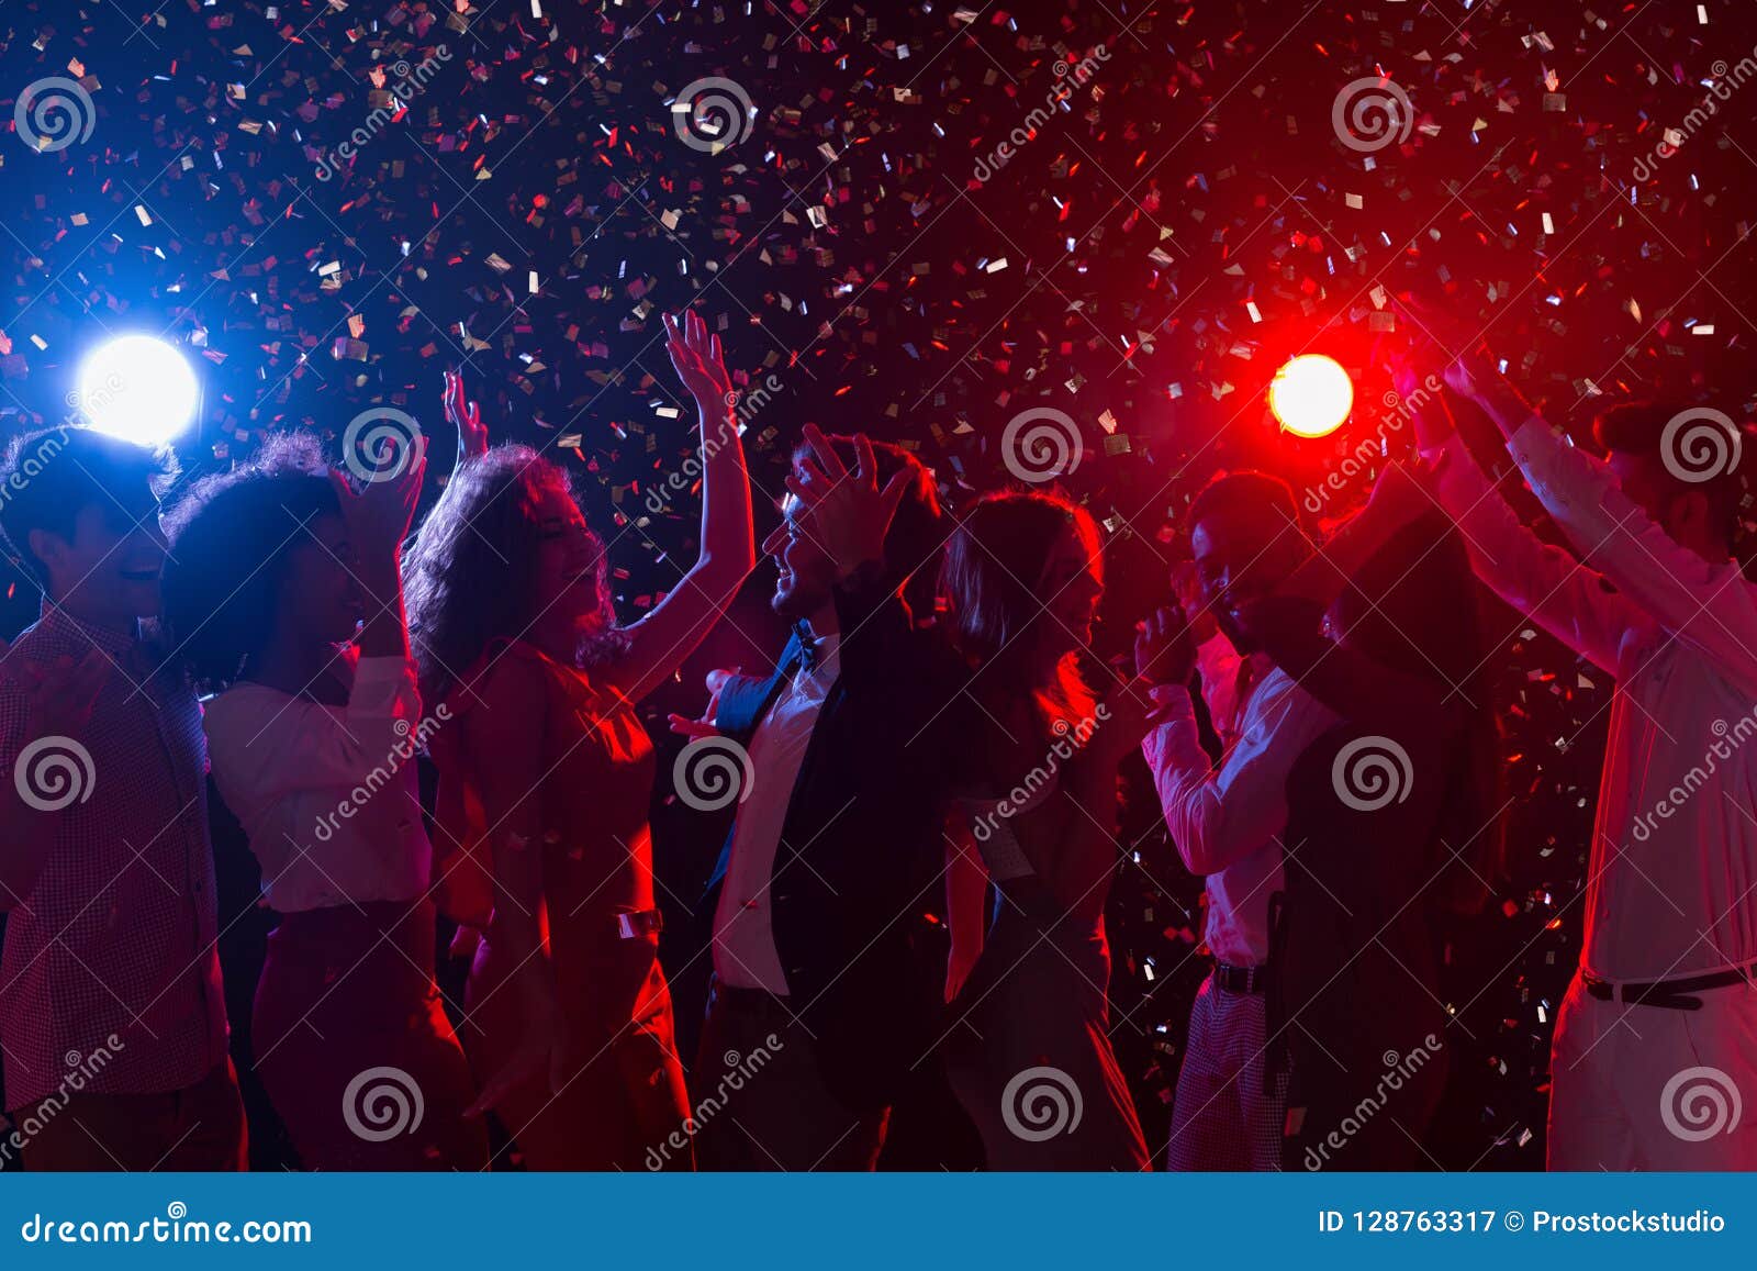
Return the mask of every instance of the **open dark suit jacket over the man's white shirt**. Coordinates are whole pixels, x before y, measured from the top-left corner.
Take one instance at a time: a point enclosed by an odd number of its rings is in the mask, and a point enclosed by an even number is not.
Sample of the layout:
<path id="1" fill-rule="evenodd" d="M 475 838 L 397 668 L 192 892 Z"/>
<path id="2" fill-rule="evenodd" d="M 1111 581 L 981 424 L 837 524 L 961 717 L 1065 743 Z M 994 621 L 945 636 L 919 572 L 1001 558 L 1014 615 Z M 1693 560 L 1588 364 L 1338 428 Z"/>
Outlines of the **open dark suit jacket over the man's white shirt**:
<path id="1" fill-rule="evenodd" d="M 942 1028 L 942 791 L 965 677 L 894 594 L 840 591 L 836 614 L 840 675 L 792 788 L 770 898 L 789 1006 L 824 1081 L 850 1108 L 877 1109 L 933 1062 Z M 726 684 L 722 733 L 748 745 L 799 652 L 794 636 L 773 675 Z M 727 835 L 703 914 L 719 904 L 731 846 Z"/>

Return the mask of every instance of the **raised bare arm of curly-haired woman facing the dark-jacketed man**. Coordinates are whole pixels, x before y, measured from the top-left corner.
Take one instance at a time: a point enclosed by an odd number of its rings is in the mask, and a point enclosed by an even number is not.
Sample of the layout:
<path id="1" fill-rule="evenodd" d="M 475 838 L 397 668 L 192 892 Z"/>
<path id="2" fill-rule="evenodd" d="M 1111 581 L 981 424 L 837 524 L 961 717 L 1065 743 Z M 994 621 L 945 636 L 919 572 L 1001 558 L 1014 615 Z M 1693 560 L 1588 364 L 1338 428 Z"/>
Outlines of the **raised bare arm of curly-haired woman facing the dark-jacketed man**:
<path id="1" fill-rule="evenodd" d="M 720 338 L 708 334 L 708 325 L 694 313 L 685 313 L 682 322 L 668 316 L 666 332 L 671 364 L 701 418 L 701 552 L 652 614 L 627 628 L 627 652 L 603 672 L 617 691 L 636 701 L 696 652 L 757 559 L 750 475 Z"/>

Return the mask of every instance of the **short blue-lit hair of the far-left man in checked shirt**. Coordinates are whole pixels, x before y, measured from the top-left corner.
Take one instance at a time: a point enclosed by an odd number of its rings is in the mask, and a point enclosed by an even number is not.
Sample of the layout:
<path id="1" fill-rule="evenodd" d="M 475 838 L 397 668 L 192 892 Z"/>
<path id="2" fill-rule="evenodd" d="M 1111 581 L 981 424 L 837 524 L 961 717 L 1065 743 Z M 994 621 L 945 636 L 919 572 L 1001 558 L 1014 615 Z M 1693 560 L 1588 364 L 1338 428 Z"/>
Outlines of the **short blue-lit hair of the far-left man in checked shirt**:
<path id="1" fill-rule="evenodd" d="M 105 515 L 144 519 L 174 473 L 169 450 L 107 432 L 72 425 L 26 432 L 0 462 L 0 534 L 12 557 L 47 587 L 47 571 L 30 550 L 33 529 L 70 540 L 74 520 L 91 505 Z"/>

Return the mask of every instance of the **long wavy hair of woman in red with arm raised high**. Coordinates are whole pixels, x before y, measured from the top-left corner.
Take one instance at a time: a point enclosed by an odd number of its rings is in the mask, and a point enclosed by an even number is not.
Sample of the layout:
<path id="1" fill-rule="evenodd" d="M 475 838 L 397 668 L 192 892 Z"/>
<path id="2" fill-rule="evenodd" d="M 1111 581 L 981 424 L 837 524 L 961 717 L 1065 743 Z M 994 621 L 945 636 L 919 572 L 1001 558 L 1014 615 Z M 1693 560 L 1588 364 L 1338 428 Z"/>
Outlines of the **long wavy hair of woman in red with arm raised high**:
<path id="1" fill-rule="evenodd" d="M 538 619 L 538 506 L 546 490 L 573 498 L 568 473 L 525 445 L 501 445 L 452 473 L 445 496 L 402 556 L 402 599 L 422 696 L 439 701 L 494 640 L 518 640 Z M 578 665 L 625 647 L 610 603 L 604 543 L 594 533 L 597 606 Z"/>

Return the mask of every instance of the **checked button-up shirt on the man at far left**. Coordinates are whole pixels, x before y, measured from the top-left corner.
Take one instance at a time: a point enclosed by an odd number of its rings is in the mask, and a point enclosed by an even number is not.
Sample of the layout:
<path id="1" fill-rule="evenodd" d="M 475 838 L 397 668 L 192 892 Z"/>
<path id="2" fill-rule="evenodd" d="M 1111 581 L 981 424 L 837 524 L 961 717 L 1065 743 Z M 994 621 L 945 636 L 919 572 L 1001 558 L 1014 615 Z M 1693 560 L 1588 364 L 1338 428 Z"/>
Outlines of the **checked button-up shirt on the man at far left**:
<path id="1" fill-rule="evenodd" d="M 77 740 L 88 788 L 53 816 L 54 849 L 28 897 L 14 904 L 0 953 L 0 1051 L 5 1102 L 54 1093 L 100 1048 L 83 1090 L 169 1093 L 200 1081 L 227 1053 L 216 953 L 214 863 L 207 839 L 207 751 L 195 694 L 155 672 L 132 635 L 104 631 L 44 605 L 0 661 L 0 773 L 46 802 L 39 765 L 19 770 L 26 737 L 23 661 L 76 661 L 93 645 L 111 675 Z M 76 763 L 83 758 L 72 751 Z M 63 772 L 61 775 L 70 775 Z M 119 1046 L 111 1046 L 114 1034 Z"/>

